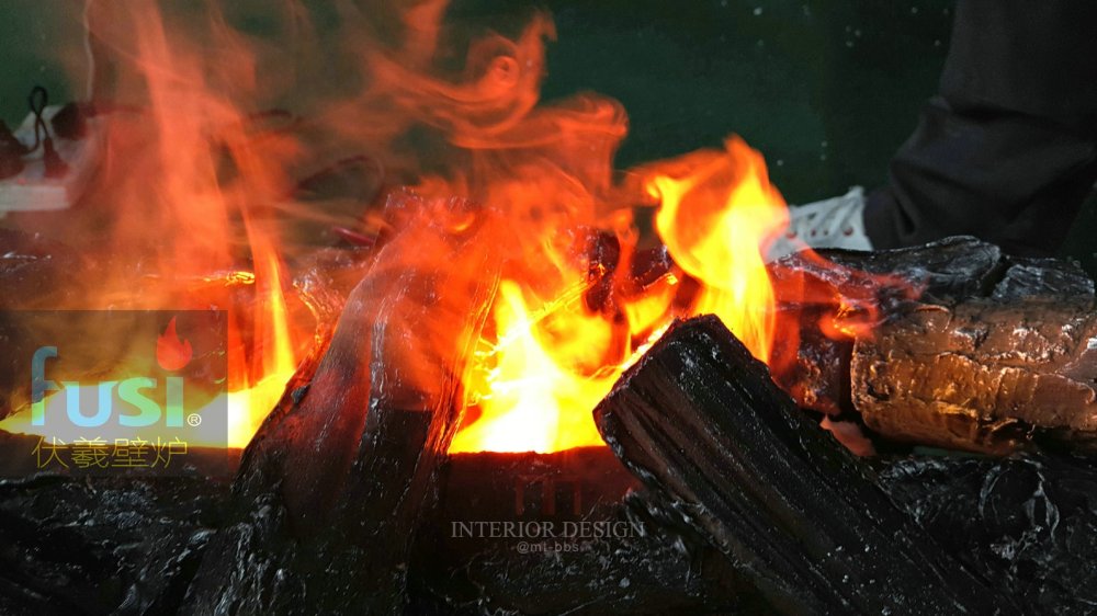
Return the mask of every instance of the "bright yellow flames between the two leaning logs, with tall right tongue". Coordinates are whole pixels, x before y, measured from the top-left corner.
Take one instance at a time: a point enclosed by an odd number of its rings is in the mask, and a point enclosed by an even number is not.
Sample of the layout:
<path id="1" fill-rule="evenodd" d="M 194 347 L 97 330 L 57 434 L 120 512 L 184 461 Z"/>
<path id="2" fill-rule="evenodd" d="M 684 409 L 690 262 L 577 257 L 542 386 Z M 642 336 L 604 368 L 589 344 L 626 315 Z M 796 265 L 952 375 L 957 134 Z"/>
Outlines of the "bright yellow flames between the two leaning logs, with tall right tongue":
<path id="1" fill-rule="evenodd" d="M 761 156 L 731 138 L 723 151 L 698 152 L 647 175 L 647 192 L 658 199 L 659 238 L 700 283 L 697 296 L 685 310 L 671 309 L 678 285 L 667 280 L 621 298 L 626 318 L 615 319 L 589 310 L 574 286 L 531 308 L 522 285 L 505 281 L 495 307 L 497 339 L 465 375 L 478 417 L 457 433 L 451 452 L 601 445 L 590 411 L 676 316 L 715 313 L 756 357 L 769 360 L 774 294 L 762 251 L 787 224 L 788 210 Z M 608 360 L 617 340 L 629 344 Z"/>

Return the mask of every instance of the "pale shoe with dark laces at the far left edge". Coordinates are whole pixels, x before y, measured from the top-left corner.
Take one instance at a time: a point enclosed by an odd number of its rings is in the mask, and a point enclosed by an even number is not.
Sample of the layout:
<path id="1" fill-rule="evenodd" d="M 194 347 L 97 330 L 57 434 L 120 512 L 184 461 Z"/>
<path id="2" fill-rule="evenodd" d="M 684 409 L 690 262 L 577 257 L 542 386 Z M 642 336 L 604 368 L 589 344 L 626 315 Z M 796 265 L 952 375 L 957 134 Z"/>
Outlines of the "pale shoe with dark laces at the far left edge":
<path id="1" fill-rule="evenodd" d="M 0 180 L 0 218 L 9 212 L 66 209 L 76 203 L 94 175 L 103 147 L 98 122 L 87 118 L 83 135 L 63 137 L 54 126 L 54 117 L 63 109 L 61 105 L 42 109 L 41 124 L 39 114 L 32 112 L 11 133 L 25 153 L 21 157 L 22 170 Z M 52 153 L 47 153 L 47 147 Z"/>

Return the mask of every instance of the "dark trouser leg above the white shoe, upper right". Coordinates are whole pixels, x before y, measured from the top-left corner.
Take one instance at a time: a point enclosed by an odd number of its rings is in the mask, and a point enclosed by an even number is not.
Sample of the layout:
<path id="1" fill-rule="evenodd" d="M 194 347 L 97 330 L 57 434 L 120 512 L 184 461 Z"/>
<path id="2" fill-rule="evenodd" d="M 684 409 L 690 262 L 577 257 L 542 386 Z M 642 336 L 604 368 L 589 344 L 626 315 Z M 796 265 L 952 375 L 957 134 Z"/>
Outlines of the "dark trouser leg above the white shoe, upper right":
<path id="1" fill-rule="evenodd" d="M 941 77 L 869 196 L 875 248 L 973 235 L 1062 243 L 1097 182 L 1097 1 L 961 0 Z"/>

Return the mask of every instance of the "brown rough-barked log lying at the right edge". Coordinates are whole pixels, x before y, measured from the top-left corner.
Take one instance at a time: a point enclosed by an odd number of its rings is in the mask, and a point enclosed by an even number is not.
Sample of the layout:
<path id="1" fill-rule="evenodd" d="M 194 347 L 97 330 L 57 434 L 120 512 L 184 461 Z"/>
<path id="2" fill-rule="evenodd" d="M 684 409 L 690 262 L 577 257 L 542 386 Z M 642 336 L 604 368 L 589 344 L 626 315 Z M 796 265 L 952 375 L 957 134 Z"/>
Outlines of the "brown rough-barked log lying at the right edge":
<path id="1" fill-rule="evenodd" d="M 926 304 L 857 341 L 853 406 L 893 438 L 1006 454 L 1097 438 L 1097 313 L 1033 298 Z"/>

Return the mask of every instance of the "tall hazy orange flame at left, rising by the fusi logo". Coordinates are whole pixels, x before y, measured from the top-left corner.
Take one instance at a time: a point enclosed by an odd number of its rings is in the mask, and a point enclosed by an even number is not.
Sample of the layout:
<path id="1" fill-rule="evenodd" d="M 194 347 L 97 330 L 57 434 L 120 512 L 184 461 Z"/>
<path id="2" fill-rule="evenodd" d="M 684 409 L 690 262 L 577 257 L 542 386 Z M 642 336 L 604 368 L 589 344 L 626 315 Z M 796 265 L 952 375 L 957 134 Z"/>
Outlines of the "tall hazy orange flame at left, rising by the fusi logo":
<path id="1" fill-rule="evenodd" d="M 191 389 L 186 411 L 227 408 L 228 433 L 211 430 L 189 445 L 244 447 L 281 397 L 309 338 L 290 313 L 284 229 L 272 210 L 284 198 L 285 169 L 297 147 L 252 121 L 257 57 L 213 5 L 200 28 L 203 43 L 168 27 L 156 4 L 94 2 L 89 11 L 95 38 L 109 42 L 109 54 L 97 58 L 113 87 L 106 106 L 121 111 L 92 121 L 104 147 L 95 152 L 101 166 L 81 203 L 14 221 L 72 242 L 93 263 L 87 288 L 48 308 L 225 310 L 227 383 L 210 385 L 227 393 L 210 399 Z M 206 45 L 224 55 L 208 54 Z M 172 321 L 156 345 L 159 364 L 181 368 L 191 352 Z M 142 376 L 146 361 L 122 358 L 106 376 Z M 47 413 L 64 412 L 66 396 L 49 396 Z M 43 434 L 29 413 L 16 410 L 0 429 L 61 437 Z"/>

